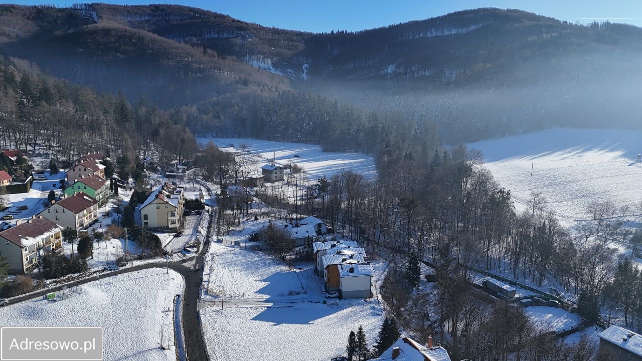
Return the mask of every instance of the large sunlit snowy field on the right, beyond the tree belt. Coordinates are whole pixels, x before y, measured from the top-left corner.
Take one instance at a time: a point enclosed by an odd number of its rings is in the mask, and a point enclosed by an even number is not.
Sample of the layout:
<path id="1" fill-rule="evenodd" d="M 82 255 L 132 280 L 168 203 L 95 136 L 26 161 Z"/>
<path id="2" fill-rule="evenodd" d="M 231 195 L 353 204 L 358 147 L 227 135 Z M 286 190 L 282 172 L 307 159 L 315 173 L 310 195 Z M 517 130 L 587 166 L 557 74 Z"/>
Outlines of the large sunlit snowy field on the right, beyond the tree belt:
<path id="1" fill-rule="evenodd" d="M 518 209 L 527 207 L 531 192 L 541 191 L 548 208 L 569 221 L 587 218 L 586 206 L 595 200 L 611 200 L 617 207 L 639 204 L 640 139 L 642 132 L 634 130 L 557 128 L 471 143 L 469 148 L 482 150 L 485 166 L 510 189 Z"/>

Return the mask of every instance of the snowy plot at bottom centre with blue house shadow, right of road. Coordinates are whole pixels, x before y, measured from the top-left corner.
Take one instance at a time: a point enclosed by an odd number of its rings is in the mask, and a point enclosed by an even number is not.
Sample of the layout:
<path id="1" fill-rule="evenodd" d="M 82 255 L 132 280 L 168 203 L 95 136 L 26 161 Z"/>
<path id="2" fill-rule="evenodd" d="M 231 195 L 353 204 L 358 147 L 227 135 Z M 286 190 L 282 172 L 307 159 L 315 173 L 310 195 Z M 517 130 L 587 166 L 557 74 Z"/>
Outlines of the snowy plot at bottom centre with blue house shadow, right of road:
<path id="1" fill-rule="evenodd" d="M 383 309 L 376 303 L 360 303 L 206 308 L 200 316 L 207 352 L 212 361 L 326 361 L 345 353 L 348 334 L 360 324 L 369 344 L 374 343 Z"/>

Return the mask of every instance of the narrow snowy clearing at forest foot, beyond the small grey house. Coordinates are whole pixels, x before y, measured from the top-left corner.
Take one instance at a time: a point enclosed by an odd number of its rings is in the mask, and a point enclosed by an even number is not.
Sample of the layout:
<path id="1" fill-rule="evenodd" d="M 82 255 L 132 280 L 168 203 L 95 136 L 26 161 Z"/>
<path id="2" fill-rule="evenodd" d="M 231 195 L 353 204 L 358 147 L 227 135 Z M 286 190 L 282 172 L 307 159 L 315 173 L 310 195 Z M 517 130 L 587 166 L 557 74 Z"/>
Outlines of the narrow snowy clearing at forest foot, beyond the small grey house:
<path id="1" fill-rule="evenodd" d="M 196 141 L 202 146 L 205 146 L 210 140 L 221 148 L 229 145 L 234 145 L 236 148 L 239 148 L 240 145 L 247 145 L 247 152 L 265 159 L 265 162 L 256 164 L 256 169 L 252 168 L 252 173 L 261 173 L 261 166 L 267 163 L 268 159 L 274 159 L 278 164 L 287 164 L 290 161 L 299 164 L 313 180 L 323 176 L 329 178 L 335 173 L 346 170 L 361 173 L 366 179 L 374 179 L 377 176 L 374 158 L 367 154 L 352 152 L 324 153 L 318 145 L 263 141 L 260 139 L 196 138 Z M 299 157 L 295 157 L 295 155 L 299 155 Z"/>

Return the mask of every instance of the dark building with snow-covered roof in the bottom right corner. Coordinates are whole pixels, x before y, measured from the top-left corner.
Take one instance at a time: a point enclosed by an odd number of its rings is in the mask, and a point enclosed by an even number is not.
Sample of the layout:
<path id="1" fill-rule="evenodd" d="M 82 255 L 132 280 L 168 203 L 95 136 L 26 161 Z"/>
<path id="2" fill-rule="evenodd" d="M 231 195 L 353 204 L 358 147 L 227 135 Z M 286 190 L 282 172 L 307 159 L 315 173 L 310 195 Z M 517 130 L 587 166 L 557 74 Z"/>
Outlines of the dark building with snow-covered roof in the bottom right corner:
<path id="1" fill-rule="evenodd" d="M 600 355 L 611 361 L 642 361 L 642 336 L 633 331 L 611 326 L 602 331 Z"/>

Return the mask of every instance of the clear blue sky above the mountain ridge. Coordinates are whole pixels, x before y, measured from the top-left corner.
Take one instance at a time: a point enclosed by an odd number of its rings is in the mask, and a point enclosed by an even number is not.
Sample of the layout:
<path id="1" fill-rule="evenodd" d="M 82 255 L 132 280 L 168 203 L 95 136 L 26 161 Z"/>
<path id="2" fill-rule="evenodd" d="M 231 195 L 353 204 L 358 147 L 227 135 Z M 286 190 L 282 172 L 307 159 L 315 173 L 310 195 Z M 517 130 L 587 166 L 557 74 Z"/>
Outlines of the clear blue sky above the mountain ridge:
<path id="1" fill-rule="evenodd" d="M 150 3 L 140 0 L 103 1 L 114 4 Z M 80 2 L 18 1 L 19 4 L 45 3 L 57 6 Z M 642 26 L 642 1 L 639 0 L 189 0 L 181 4 L 226 13 L 265 26 L 315 32 L 377 28 L 485 6 L 517 8 L 571 22 L 609 20 Z"/>

